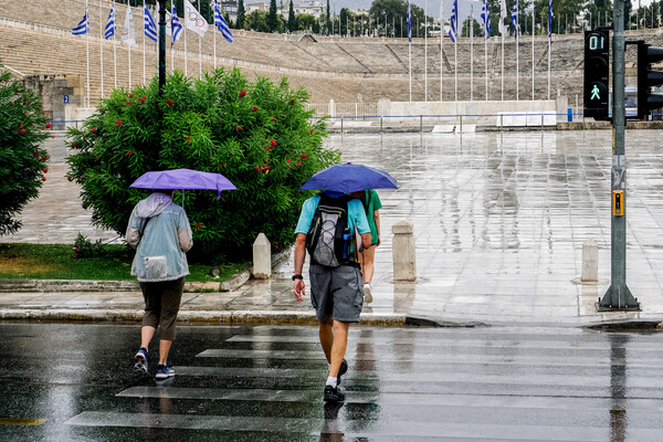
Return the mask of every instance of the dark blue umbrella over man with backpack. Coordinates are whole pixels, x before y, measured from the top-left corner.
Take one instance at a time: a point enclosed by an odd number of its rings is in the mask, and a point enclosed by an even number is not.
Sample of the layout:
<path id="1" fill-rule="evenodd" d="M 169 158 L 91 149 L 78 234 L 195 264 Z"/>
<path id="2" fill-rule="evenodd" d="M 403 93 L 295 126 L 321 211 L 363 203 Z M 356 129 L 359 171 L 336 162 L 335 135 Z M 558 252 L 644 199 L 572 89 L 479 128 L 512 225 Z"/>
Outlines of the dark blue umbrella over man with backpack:
<path id="1" fill-rule="evenodd" d="M 368 189 L 398 189 L 398 182 L 382 170 L 346 162 L 320 170 L 299 189 L 350 193 Z"/>

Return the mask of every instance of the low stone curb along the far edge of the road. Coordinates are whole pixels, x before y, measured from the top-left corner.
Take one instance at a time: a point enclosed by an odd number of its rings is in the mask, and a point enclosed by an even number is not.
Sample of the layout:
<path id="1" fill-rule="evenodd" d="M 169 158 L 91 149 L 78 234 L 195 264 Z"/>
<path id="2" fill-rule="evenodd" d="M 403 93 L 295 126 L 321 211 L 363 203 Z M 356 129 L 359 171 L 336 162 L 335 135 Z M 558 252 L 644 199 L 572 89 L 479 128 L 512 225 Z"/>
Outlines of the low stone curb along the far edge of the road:
<path id="1" fill-rule="evenodd" d="M 4 320 L 43 320 L 43 322 L 133 322 L 143 319 L 144 311 L 135 309 L 0 309 L 0 319 Z M 180 311 L 178 323 L 204 324 L 290 324 L 317 325 L 314 312 L 288 311 Z M 406 326 L 404 315 L 365 314 L 360 325 Z"/>

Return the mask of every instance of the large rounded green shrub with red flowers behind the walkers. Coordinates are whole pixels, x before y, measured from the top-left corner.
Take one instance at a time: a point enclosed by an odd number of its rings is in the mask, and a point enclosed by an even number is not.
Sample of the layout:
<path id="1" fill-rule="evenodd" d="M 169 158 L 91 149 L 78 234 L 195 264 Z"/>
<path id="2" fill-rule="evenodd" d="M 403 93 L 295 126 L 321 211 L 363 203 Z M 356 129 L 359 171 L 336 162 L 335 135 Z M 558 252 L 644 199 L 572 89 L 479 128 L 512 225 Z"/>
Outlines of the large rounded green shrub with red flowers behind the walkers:
<path id="1" fill-rule="evenodd" d="M 188 168 L 219 172 L 236 191 L 186 192 L 194 254 L 245 257 L 257 233 L 274 246 L 294 241 L 303 201 L 298 190 L 339 154 L 323 148 L 324 122 L 312 124 L 308 94 L 284 78 L 250 83 L 239 70 L 201 80 L 176 72 L 164 96 L 148 87 L 116 90 L 82 129 L 70 129 L 70 177 L 82 187 L 93 223 L 124 234 L 134 206 L 147 196 L 129 188 L 150 170 Z M 181 203 L 181 192 L 176 192 Z"/>

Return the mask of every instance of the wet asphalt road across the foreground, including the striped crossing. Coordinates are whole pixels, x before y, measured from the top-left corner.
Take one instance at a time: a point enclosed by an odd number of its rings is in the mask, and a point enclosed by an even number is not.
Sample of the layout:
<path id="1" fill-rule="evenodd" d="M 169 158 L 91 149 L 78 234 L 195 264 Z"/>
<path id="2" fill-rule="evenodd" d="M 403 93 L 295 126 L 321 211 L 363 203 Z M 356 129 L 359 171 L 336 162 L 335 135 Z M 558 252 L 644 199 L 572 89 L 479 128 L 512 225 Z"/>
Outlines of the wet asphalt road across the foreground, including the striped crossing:
<path id="1" fill-rule="evenodd" d="M 0 440 L 663 440 L 663 334 L 351 327 L 338 407 L 315 327 L 181 326 L 167 385 L 138 334 L 0 324 Z"/>

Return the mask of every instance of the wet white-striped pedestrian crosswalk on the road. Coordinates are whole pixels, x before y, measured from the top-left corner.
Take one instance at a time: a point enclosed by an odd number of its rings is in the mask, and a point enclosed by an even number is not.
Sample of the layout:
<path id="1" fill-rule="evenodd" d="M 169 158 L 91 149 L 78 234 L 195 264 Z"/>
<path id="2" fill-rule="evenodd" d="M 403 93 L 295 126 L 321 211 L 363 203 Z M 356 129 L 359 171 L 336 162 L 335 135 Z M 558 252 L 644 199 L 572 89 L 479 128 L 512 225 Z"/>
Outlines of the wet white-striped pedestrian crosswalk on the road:
<path id="1" fill-rule="evenodd" d="M 663 440 L 661 334 L 352 327 L 337 407 L 322 400 L 317 328 L 231 335 L 173 380 L 136 380 L 114 409 L 66 424 L 185 440 Z"/>

